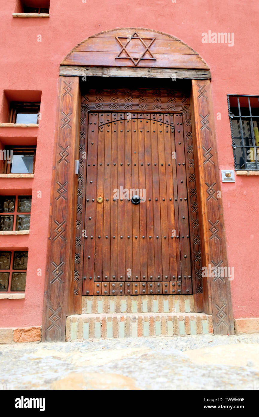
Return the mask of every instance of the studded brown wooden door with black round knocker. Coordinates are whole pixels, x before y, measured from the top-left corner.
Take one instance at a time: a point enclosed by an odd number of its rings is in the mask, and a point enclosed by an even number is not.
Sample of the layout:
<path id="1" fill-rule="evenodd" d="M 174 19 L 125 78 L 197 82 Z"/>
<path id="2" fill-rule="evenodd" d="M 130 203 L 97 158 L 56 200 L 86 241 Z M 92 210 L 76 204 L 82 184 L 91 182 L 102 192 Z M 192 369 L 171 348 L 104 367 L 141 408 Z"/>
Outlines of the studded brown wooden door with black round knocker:
<path id="1" fill-rule="evenodd" d="M 83 295 L 191 294 L 182 114 L 87 123 Z"/>

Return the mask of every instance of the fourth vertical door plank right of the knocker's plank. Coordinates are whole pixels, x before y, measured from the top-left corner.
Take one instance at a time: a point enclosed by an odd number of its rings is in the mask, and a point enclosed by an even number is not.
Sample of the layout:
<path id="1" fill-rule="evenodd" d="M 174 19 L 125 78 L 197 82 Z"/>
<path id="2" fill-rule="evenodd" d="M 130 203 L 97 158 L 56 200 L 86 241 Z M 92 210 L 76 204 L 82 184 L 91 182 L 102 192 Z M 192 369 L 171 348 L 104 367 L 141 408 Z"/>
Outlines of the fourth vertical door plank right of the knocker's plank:
<path id="1" fill-rule="evenodd" d="M 158 113 L 158 172 L 159 172 L 159 200 L 161 216 L 161 246 L 162 246 L 162 279 L 170 281 L 170 262 L 168 246 L 168 210 L 166 195 L 166 167 L 165 167 L 165 138 L 164 138 L 164 115 Z M 168 132 L 169 133 L 169 132 Z"/>

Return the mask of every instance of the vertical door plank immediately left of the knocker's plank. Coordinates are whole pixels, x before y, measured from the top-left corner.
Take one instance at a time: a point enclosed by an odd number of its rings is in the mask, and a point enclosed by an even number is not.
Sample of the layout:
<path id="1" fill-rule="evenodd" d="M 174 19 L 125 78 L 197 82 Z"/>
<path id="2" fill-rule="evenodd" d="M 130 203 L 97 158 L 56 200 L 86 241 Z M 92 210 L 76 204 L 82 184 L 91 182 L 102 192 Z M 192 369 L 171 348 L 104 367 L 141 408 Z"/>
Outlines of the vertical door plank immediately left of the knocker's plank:
<path id="1" fill-rule="evenodd" d="M 132 171 L 131 171 L 131 113 L 127 113 L 125 121 L 125 189 L 132 188 Z M 125 200 L 125 277 L 126 281 L 133 280 L 133 236 L 132 236 L 132 206 L 129 198 Z M 132 289 L 132 286 L 131 286 Z"/>

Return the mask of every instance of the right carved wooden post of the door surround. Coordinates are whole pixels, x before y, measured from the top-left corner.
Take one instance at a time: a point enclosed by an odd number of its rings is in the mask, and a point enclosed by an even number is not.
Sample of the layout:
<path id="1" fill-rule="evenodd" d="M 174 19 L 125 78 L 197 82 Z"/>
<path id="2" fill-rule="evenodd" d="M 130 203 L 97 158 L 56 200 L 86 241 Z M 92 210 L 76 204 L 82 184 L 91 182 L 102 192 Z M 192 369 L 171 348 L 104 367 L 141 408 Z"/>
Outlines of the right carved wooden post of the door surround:
<path id="1" fill-rule="evenodd" d="M 196 159 L 202 266 L 227 266 L 220 172 L 209 80 L 192 80 L 192 124 Z M 213 315 L 215 334 L 234 334 L 228 277 L 203 278 L 203 309 Z"/>

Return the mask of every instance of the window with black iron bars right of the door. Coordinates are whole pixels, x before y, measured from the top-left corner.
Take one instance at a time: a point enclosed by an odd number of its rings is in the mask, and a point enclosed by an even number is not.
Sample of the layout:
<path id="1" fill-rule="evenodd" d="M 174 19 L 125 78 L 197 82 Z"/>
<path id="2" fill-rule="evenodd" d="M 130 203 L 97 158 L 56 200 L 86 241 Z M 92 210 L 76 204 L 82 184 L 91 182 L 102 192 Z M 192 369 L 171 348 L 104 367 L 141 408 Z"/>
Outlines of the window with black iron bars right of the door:
<path id="1" fill-rule="evenodd" d="M 236 170 L 259 170 L 259 96 L 228 95 Z"/>

